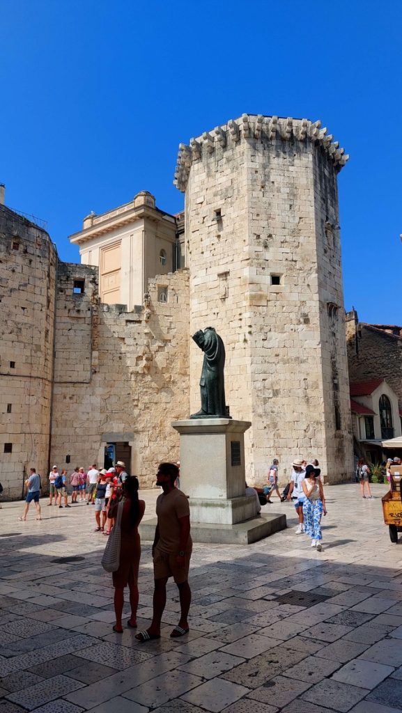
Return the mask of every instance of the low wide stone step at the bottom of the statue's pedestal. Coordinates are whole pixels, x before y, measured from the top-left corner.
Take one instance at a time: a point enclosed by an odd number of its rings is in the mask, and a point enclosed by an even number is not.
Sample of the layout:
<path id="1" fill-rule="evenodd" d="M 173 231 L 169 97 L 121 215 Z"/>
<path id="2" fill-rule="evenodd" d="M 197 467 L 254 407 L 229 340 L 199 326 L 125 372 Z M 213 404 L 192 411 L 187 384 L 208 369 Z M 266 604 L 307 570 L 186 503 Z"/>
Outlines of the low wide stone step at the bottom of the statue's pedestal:
<path id="1" fill-rule="evenodd" d="M 146 520 L 139 526 L 141 540 L 154 541 L 156 518 Z M 222 545 L 251 545 L 279 530 L 286 529 L 286 515 L 261 515 L 253 520 L 236 525 L 216 525 L 216 523 L 191 522 L 193 542 Z"/>

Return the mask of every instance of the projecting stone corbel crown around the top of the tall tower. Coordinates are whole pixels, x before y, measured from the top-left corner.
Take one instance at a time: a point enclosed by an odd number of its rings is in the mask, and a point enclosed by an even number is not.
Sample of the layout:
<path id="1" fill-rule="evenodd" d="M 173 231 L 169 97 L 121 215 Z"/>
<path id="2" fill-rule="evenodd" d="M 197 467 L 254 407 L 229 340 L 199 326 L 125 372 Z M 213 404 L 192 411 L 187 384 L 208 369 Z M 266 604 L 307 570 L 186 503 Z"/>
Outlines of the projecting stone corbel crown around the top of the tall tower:
<path id="1" fill-rule="evenodd" d="M 321 145 L 328 157 L 333 162 L 336 170 L 346 164 L 349 156 L 339 148 L 338 141 L 333 141 L 333 135 L 327 133 L 326 128 L 321 128 L 321 121 L 309 119 L 293 119 L 278 116 L 263 116 L 262 114 L 243 114 L 238 119 L 230 119 L 228 123 L 217 126 L 212 131 L 205 131 L 197 138 L 191 138 L 190 144 L 179 144 L 174 185 L 183 193 L 186 190 L 191 164 L 200 160 L 202 155 L 214 153 L 216 148 L 226 148 L 236 145 L 242 139 L 262 138 L 288 141 L 295 138 L 298 141 L 308 141 Z"/>

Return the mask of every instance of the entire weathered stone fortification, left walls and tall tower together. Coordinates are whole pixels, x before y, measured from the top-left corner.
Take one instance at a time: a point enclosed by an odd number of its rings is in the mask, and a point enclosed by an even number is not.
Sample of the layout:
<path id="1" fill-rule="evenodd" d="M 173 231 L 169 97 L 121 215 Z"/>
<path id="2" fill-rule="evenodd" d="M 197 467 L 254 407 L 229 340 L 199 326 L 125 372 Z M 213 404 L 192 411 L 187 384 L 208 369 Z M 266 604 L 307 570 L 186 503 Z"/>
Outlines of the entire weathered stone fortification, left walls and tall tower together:
<path id="1" fill-rule="evenodd" d="M 98 267 L 59 262 L 44 230 L 0 206 L 6 497 L 21 496 L 31 465 L 46 476 L 53 463 L 103 464 L 109 442 L 128 444 L 129 469 L 150 486 L 158 461 L 179 458 L 171 421 L 199 409 L 189 335 L 208 325 L 226 345 L 231 415 L 252 422 L 248 482 L 263 483 L 273 457 L 281 482 L 296 457 L 317 457 L 329 481 L 349 478 L 337 194 L 347 158 L 319 122 L 275 116 L 243 115 L 181 145 L 186 269 L 149 279 L 130 312 L 101 304 Z"/>

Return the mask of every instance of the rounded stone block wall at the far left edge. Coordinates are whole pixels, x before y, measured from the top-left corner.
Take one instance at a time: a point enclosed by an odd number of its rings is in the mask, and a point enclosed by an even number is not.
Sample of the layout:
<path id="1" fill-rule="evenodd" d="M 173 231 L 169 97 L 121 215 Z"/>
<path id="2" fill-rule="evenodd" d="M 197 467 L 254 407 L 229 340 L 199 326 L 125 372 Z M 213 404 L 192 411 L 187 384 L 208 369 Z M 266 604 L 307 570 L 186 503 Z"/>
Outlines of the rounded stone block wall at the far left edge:
<path id="1" fill-rule="evenodd" d="M 0 205 L 0 481 L 21 497 L 49 465 L 57 254 L 34 222 Z M 11 444 L 6 453 L 5 443 Z"/>

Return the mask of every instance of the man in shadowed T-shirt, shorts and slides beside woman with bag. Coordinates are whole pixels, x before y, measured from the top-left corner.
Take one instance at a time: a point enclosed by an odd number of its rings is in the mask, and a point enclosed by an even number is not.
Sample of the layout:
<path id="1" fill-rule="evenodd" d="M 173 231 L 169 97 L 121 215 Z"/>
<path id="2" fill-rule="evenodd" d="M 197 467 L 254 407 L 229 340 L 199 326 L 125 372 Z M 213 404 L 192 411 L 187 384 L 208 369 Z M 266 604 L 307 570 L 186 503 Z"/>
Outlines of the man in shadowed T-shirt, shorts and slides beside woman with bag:
<path id="1" fill-rule="evenodd" d="M 193 543 L 190 536 L 188 498 L 174 486 L 179 468 L 174 463 L 161 463 L 156 473 L 156 485 L 163 493 L 156 501 L 156 525 L 152 556 L 154 558 L 154 616 L 151 626 L 136 635 L 141 642 L 161 637 L 161 618 L 166 605 L 166 584 L 173 577 L 179 589 L 180 620 L 171 637 L 184 636 L 189 631 L 191 589 L 189 565 Z"/>

